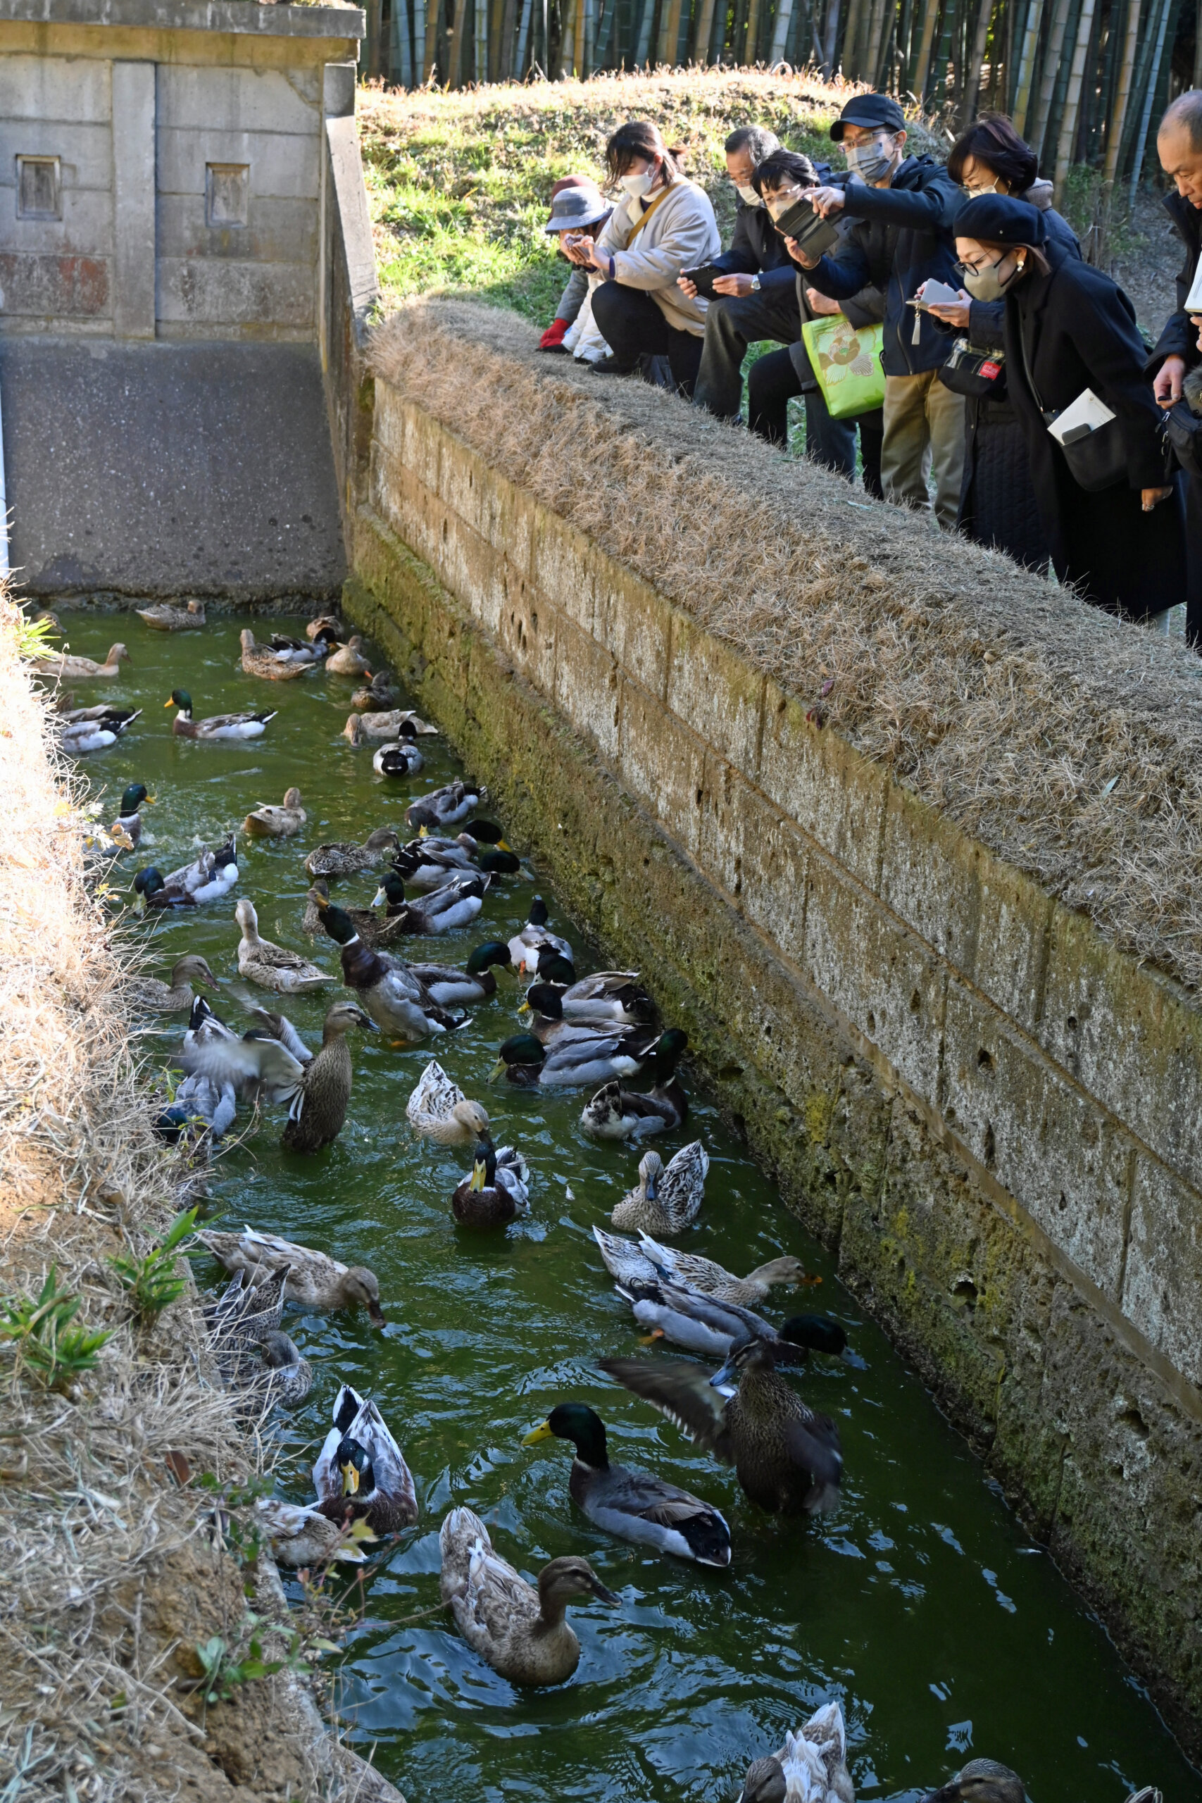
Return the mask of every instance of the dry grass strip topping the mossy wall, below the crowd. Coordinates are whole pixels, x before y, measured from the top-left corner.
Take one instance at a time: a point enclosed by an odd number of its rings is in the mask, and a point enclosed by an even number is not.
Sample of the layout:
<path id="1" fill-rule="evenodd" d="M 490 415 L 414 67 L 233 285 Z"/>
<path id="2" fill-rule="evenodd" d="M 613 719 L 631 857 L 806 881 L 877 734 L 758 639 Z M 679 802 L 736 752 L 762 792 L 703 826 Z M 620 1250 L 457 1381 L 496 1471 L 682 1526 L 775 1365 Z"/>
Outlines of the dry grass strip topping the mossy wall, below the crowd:
<path id="1" fill-rule="evenodd" d="M 377 330 L 371 364 L 991 851 L 1202 984 L 1184 642 L 535 344 L 514 314 L 427 301 Z"/>

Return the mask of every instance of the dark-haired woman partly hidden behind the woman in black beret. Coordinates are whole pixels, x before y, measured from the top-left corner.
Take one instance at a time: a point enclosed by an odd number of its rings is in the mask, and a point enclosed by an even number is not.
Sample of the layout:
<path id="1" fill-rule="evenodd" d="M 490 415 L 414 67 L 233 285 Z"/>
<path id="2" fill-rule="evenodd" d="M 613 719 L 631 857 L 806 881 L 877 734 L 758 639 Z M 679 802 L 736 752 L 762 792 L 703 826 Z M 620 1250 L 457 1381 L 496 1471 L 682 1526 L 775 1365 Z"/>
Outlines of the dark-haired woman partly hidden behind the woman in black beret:
<path id="1" fill-rule="evenodd" d="M 1040 180 L 1034 151 L 1004 114 L 982 114 L 961 133 L 948 157 L 948 175 L 970 200 L 977 195 L 1011 195 L 1036 207 L 1047 236 L 1063 245 L 1067 256 L 1081 254 L 1072 227 L 1052 207 L 1052 184 Z M 1002 301 L 973 301 L 961 288 L 955 307 L 932 307 L 932 314 L 980 353 L 988 368 L 997 368 L 991 393 L 966 395 L 964 485 L 957 525 L 979 545 L 1007 552 L 1029 570 L 1043 570 L 1047 534 L 1034 505 L 1027 444 L 1006 395 L 1006 307 Z M 946 373 L 955 379 L 953 371 Z"/>

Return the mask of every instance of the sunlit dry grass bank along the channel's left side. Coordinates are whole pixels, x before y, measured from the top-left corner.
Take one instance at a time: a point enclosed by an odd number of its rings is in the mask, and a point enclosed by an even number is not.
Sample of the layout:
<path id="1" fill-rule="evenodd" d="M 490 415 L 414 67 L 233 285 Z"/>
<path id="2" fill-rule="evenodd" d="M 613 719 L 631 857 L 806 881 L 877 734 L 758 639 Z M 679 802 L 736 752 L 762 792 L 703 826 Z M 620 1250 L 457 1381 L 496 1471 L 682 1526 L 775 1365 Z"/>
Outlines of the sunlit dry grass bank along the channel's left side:
<path id="1" fill-rule="evenodd" d="M 296 1675 L 207 1711 L 193 1684 L 196 1644 L 245 1646 L 243 1579 L 265 1657 L 283 1599 L 265 1561 L 236 1567 L 213 1496 L 175 1473 L 182 1455 L 193 1475 L 240 1480 L 261 1448 L 207 1361 L 195 1293 L 139 1325 L 106 1262 L 160 1237 L 187 1170 L 146 1125 L 121 1004 L 130 952 L 90 892 L 14 620 L 0 599 L 0 1295 L 38 1295 L 54 1266 L 79 1322 L 112 1338 L 63 1388 L 0 1341 L 0 1789 L 368 1799 L 373 1776 L 344 1763 Z"/>

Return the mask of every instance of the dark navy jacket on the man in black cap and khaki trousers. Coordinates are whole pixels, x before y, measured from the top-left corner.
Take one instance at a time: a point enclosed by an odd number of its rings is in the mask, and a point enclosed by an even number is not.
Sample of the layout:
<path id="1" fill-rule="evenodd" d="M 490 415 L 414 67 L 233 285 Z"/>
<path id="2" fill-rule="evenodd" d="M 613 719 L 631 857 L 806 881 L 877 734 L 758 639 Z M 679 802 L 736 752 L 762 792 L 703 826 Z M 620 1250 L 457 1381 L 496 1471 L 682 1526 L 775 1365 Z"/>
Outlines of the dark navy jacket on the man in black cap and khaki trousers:
<path id="1" fill-rule="evenodd" d="M 930 157 L 906 157 L 888 188 L 851 180 L 843 193 L 851 231 L 838 256 L 824 256 L 809 272 L 809 283 L 836 301 L 870 285 L 883 288 L 885 375 L 937 370 L 946 362 L 948 339 L 906 301 L 932 276 L 959 287 L 952 220 L 964 195 Z"/>

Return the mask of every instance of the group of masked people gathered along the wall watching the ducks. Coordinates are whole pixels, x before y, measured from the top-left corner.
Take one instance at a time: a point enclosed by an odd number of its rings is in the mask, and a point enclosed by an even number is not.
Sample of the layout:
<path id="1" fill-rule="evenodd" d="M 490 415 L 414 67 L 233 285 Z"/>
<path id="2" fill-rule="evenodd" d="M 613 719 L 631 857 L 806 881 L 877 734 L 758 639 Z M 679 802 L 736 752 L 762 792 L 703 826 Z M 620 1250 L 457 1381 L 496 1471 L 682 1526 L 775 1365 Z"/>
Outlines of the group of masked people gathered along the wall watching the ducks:
<path id="1" fill-rule="evenodd" d="M 1168 631 L 1186 602 L 1202 645 L 1202 90 L 1157 135 L 1186 263 L 1152 352 L 1002 114 L 946 164 L 906 153 L 887 94 L 852 96 L 831 137 L 845 171 L 762 126 L 730 133 L 723 251 L 683 153 L 647 121 L 620 126 L 607 191 L 568 177 L 551 193 L 546 231 L 573 269 L 541 348 L 737 420 L 748 346 L 775 341 L 746 391 L 768 444 L 788 445 L 802 397 L 806 456 L 847 480 L 860 462 L 870 494 L 1123 618 Z"/>

